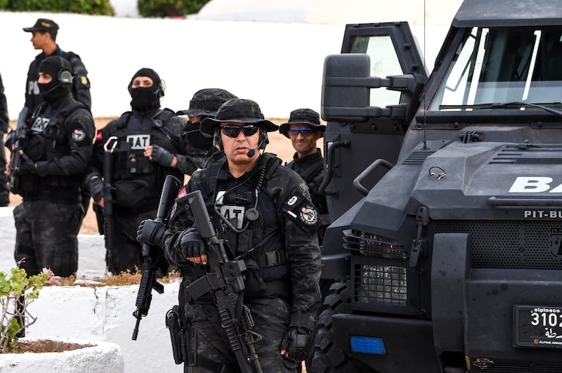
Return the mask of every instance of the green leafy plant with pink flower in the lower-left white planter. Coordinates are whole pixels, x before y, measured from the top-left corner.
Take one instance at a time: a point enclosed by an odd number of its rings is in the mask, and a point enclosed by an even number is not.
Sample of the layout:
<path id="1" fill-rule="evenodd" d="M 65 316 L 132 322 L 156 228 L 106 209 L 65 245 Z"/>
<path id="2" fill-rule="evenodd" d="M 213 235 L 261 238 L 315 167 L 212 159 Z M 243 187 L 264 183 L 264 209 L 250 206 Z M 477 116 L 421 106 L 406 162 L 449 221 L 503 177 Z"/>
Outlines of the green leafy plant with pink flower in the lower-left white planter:
<path id="1" fill-rule="evenodd" d="M 10 277 L 0 272 L 0 353 L 11 352 L 18 345 L 18 334 L 37 320 L 27 306 L 37 299 L 43 284 L 52 277 L 46 269 L 30 277 L 23 268 L 12 268 Z M 24 325 L 20 325 L 18 320 L 26 317 Z"/>

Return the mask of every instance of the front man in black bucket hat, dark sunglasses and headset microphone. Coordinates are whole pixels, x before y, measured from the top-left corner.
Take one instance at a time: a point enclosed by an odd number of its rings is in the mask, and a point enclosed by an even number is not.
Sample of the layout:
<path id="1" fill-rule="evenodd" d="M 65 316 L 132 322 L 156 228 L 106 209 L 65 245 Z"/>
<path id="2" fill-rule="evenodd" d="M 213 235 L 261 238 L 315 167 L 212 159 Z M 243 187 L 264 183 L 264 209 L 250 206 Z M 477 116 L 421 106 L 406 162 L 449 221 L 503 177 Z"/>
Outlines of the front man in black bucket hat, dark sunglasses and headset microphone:
<path id="1" fill-rule="evenodd" d="M 227 255 L 244 259 L 243 301 L 254 318 L 253 331 L 263 337 L 254 346 L 263 372 L 272 373 L 298 371 L 310 353 L 320 308 L 318 211 L 302 178 L 275 155 L 260 152 L 267 133 L 277 129 L 254 101 L 228 100 L 201 124 L 226 157 L 194 172 L 179 192 L 202 192 Z M 171 263 L 188 266 L 185 286 L 208 272 L 207 248 L 185 210 L 176 207 L 169 224 L 162 240 L 157 225 L 142 235 L 163 242 Z M 185 314 L 195 330 L 188 350 L 196 356 L 188 354 L 188 367 L 201 373 L 240 371 L 212 295 L 197 296 L 190 286 L 185 292 L 190 299 Z"/>

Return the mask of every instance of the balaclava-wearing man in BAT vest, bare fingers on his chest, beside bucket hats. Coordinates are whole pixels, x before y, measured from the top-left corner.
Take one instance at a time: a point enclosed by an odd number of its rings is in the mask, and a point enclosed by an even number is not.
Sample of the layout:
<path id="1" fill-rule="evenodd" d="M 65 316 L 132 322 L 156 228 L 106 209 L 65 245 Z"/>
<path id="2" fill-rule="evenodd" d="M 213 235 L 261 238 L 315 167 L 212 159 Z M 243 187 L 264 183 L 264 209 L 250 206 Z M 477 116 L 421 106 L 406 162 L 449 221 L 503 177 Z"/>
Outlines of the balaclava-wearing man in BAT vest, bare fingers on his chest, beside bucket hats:
<path id="1" fill-rule="evenodd" d="M 138 225 L 156 216 L 167 175 L 183 181 L 176 155 L 183 149 L 180 136 L 186 122 L 170 109 L 160 110 L 163 84 L 154 70 L 138 70 L 128 87 L 132 111 L 99 130 L 93 145 L 92 170 L 86 180 L 98 221 L 105 220 L 107 269 L 114 274 L 141 268 Z M 106 152 L 110 156 L 104 162 Z M 105 206 L 109 197 L 113 202 Z M 159 267 L 166 273 L 163 257 Z"/>

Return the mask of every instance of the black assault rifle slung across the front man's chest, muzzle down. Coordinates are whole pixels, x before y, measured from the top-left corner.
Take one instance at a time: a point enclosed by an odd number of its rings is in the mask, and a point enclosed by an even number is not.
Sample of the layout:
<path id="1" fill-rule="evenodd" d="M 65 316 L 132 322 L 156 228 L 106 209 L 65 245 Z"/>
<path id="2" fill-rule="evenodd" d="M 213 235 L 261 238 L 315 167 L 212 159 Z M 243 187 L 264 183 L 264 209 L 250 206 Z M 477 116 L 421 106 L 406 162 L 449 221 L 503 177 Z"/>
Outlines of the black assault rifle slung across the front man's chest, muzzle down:
<path id="1" fill-rule="evenodd" d="M 243 303 L 242 273 L 246 270 L 246 264 L 242 260 L 228 259 L 224 240 L 216 235 L 200 190 L 178 197 L 176 203 L 191 212 L 197 231 L 207 246 L 210 268 L 207 275 L 187 287 L 187 292 L 192 300 L 212 292 L 218 314 L 221 316 L 221 326 L 225 329 L 240 372 L 261 373 L 254 343 L 262 337 L 251 331 L 254 320 L 251 318 L 250 309 Z"/>

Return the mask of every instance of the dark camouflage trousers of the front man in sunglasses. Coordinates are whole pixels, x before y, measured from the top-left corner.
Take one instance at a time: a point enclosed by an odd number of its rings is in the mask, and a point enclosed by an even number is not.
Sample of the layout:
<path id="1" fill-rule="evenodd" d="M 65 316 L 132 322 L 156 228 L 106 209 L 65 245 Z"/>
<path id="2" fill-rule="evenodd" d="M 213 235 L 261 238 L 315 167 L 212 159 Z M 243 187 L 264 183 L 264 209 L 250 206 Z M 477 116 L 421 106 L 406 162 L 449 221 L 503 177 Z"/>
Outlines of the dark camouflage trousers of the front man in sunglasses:
<path id="1" fill-rule="evenodd" d="M 280 354 L 281 341 L 291 320 L 291 306 L 281 298 L 254 299 L 247 303 L 254 318 L 254 332 L 263 339 L 254 344 L 263 373 L 300 372 L 300 363 Z M 188 304 L 185 313 L 195 328 L 195 362 L 188 362 L 184 372 L 236 373 L 240 372 L 226 334 L 221 327 L 218 310 L 213 304 Z M 189 355 L 189 354 L 188 354 Z"/>

